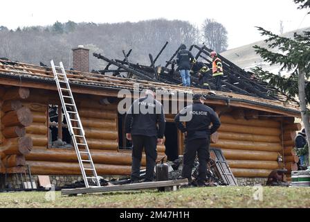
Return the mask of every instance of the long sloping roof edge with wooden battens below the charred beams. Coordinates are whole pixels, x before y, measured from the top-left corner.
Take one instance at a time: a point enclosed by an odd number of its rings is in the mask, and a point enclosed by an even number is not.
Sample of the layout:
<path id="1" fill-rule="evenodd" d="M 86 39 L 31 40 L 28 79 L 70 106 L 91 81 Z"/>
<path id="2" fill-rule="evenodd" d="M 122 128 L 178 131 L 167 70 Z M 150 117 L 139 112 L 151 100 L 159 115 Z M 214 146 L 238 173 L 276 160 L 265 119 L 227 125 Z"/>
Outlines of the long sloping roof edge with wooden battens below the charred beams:
<path id="1" fill-rule="evenodd" d="M 69 83 L 71 84 L 73 92 L 84 92 L 85 88 L 96 89 L 95 93 L 111 91 L 113 95 L 117 96 L 120 89 L 134 90 L 134 84 L 138 83 L 141 89 L 147 87 L 156 87 L 169 93 L 200 93 L 208 94 L 207 89 L 199 89 L 195 87 L 183 87 L 179 85 L 170 85 L 161 82 L 152 82 L 147 80 L 137 80 L 129 78 L 120 78 L 115 76 L 105 76 L 101 74 L 85 73 L 80 71 L 66 70 Z M 30 65 L 22 62 L 12 62 L 8 60 L 0 60 L 0 84 L 2 85 L 20 85 L 28 87 L 36 87 L 33 83 L 40 83 L 46 89 L 57 90 L 55 80 L 53 79 L 53 71 L 51 67 L 41 67 L 37 65 Z M 15 83 L 5 80 L 15 80 Z M 27 83 L 27 85 L 26 85 Z M 50 87 L 47 87 L 50 86 Z M 37 86 L 38 87 L 38 86 Z M 91 93 L 89 93 L 91 94 Z M 112 94 L 110 94 L 112 95 Z M 297 105 L 284 105 L 281 101 L 274 101 L 268 99 L 261 99 L 253 96 L 245 96 L 230 92 L 216 92 L 216 96 L 208 96 L 210 103 L 228 104 L 239 106 L 243 108 L 253 108 L 257 110 L 265 110 L 269 112 L 276 112 L 279 114 L 291 115 L 300 117 L 300 110 Z"/>

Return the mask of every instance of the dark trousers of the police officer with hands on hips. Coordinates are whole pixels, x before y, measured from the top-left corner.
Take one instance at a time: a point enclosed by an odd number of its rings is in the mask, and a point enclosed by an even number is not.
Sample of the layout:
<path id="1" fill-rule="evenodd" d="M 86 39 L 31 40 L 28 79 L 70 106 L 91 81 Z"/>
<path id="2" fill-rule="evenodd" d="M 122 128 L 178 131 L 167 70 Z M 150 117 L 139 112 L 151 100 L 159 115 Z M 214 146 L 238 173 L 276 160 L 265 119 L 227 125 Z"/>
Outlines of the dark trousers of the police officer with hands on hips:
<path id="1" fill-rule="evenodd" d="M 189 182 L 192 182 L 192 167 L 197 154 L 199 160 L 198 184 L 206 182 L 207 162 L 210 157 L 209 145 L 210 139 L 192 139 L 186 142 L 182 176 L 183 178 L 188 178 Z"/>

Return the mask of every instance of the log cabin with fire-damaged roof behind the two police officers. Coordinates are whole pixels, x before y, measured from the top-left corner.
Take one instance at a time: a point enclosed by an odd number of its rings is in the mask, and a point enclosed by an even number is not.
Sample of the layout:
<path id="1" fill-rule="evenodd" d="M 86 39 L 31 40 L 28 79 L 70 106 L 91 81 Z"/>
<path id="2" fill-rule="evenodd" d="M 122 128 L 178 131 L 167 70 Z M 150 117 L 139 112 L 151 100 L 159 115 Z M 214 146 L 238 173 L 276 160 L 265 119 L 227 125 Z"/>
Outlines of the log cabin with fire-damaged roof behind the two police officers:
<path id="1" fill-rule="evenodd" d="M 174 101 L 175 94 L 209 93 L 197 87 L 83 71 L 68 70 L 67 76 L 99 176 L 131 172 L 131 144 L 125 139 L 124 114 L 118 113 L 121 89 L 134 92 L 136 83 L 140 90 L 156 87 L 170 95 L 170 105 L 185 102 Z M 23 172 L 29 165 L 33 175 L 80 176 L 52 69 L 0 60 L 0 78 L 1 173 Z M 236 178 L 267 178 L 273 169 L 284 167 L 290 173 L 297 168 L 293 146 L 301 126 L 295 123 L 295 117 L 300 118 L 296 105 L 233 92 L 209 95 L 206 105 L 222 123 L 212 135 L 211 146 L 221 148 Z M 165 114 L 165 144 L 157 147 L 158 160 L 183 154 L 184 137 L 176 129 L 174 115 Z"/>

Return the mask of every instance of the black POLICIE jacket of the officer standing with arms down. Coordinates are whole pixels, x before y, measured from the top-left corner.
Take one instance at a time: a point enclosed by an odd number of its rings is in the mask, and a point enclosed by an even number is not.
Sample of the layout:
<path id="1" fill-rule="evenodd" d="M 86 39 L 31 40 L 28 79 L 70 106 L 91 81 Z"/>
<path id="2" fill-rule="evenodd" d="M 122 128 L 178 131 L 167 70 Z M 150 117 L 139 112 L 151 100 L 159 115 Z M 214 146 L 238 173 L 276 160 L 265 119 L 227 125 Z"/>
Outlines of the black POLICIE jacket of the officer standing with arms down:
<path id="1" fill-rule="evenodd" d="M 127 111 L 125 132 L 162 139 L 165 133 L 163 105 L 150 95 L 136 99 Z"/>

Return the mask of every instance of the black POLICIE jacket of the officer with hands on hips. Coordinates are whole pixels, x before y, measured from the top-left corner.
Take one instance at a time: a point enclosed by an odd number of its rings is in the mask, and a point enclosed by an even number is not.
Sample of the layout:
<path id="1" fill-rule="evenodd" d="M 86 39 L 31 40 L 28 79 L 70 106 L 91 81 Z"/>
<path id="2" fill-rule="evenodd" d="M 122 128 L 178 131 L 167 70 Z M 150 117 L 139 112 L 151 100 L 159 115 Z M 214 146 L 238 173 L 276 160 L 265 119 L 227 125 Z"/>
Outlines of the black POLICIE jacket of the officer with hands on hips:
<path id="1" fill-rule="evenodd" d="M 185 128 L 180 117 L 185 117 L 188 114 L 192 114 L 192 118 L 185 120 Z M 174 121 L 182 133 L 188 133 L 188 139 L 209 138 L 221 126 L 221 121 L 215 111 L 202 103 L 194 103 L 183 108 L 179 114 L 176 114 Z M 211 123 L 212 127 L 210 128 Z"/>

